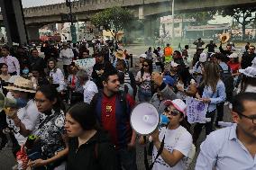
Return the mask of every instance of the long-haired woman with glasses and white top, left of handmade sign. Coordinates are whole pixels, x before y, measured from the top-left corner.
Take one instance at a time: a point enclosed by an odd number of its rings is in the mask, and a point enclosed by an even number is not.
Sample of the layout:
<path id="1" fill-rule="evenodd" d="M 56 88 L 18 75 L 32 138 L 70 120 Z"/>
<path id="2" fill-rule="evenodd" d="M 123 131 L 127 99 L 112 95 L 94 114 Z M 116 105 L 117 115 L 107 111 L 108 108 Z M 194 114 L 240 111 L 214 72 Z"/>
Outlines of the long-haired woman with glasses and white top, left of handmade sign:
<path id="1" fill-rule="evenodd" d="M 65 90 L 65 79 L 62 71 L 57 67 L 56 60 L 54 58 L 50 58 L 47 62 L 48 68 L 48 76 L 52 81 L 52 84 L 58 86 L 57 91 L 63 92 Z"/>

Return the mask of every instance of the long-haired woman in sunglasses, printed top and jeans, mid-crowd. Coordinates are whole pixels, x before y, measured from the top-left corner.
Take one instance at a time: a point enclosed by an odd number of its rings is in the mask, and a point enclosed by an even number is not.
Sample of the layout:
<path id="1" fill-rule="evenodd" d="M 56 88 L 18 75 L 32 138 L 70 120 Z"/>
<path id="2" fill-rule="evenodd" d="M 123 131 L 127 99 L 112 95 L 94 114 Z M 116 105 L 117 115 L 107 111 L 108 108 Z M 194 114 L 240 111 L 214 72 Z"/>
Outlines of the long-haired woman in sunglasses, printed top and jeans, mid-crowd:
<path id="1" fill-rule="evenodd" d="M 146 59 L 142 63 L 142 69 L 135 77 L 137 85 L 139 85 L 138 97 L 140 102 L 149 102 L 151 100 L 151 74 L 152 62 Z"/>

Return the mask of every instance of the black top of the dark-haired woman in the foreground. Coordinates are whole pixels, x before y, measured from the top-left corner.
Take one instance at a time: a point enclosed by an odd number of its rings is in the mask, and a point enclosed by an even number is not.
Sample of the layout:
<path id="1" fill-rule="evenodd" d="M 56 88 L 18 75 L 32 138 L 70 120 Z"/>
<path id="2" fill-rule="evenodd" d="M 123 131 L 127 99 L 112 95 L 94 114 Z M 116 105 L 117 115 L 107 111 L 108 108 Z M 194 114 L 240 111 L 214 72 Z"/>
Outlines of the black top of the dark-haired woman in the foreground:
<path id="1" fill-rule="evenodd" d="M 78 148 L 78 138 L 69 139 L 67 170 L 117 170 L 114 145 L 104 131 Z"/>

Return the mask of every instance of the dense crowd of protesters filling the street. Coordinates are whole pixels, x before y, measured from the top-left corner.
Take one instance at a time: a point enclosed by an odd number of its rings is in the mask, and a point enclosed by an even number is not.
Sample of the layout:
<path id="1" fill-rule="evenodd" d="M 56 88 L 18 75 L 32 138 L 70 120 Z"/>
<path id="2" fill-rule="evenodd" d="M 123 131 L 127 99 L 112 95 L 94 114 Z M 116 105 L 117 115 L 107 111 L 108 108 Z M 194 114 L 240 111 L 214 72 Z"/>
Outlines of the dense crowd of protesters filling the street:
<path id="1" fill-rule="evenodd" d="M 0 114 L 1 149 L 11 139 L 18 169 L 136 170 L 136 142 L 147 145 L 148 138 L 136 134 L 130 117 L 136 103 L 146 102 L 169 120 L 150 135 L 152 169 L 186 169 L 203 127 L 196 169 L 255 169 L 255 47 L 247 44 L 239 57 L 230 43 L 215 52 L 210 41 L 206 53 L 203 40 L 194 44 L 193 57 L 188 45 L 149 48 L 136 74 L 127 51 L 107 42 L 96 43 L 93 54 L 87 42 L 43 45 L 44 58 L 38 49 L 3 46 L 1 89 L 9 102 Z M 74 62 L 86 58 L 95 58 L 92 73 Z M 207 103 L 205 123 L 188 123 L 187 97 Z M 224 105 L 233 124 L 216 130 Z"/>

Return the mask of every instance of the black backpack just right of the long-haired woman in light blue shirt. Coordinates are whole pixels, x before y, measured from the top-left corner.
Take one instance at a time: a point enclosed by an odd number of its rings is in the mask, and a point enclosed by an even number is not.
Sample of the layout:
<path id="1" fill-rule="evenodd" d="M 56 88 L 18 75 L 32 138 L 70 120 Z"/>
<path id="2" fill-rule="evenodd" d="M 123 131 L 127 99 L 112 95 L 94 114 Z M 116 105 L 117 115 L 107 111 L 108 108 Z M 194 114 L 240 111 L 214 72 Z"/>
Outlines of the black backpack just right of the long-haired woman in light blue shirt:
<path id="1" fill-rule="evenodd" d="M 224 70 L 221 66 L 220 67 L 220 76 L 221 80 L 224 82 L 224 87 L 225 87 L 225 94 L 232 95 L 233 94 L 233 76 L 231 73 L 230 67 L 228 67 L 228 70 Z"/>

